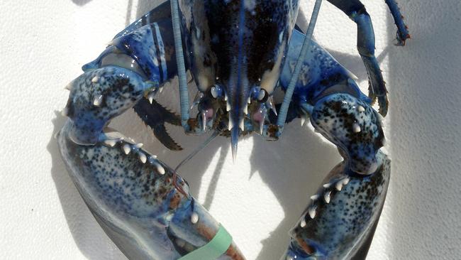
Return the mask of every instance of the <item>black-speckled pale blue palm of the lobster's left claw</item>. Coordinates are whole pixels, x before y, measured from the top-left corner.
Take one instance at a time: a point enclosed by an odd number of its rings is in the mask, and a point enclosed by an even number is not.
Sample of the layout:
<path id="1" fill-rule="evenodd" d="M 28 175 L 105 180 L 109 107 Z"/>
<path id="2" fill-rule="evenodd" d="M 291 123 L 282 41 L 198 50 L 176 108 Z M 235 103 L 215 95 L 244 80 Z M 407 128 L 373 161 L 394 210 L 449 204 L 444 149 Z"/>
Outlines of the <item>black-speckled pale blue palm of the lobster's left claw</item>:
<path id="1" fill-rule="evenodd" d="M 60 145 L 62 154 L 85 200 L 103 211 L 161 217 L 185 201 L 182 195 L 178 200 L 172 171 L 133 143 L 128 143 L 132 149 L 127 155 L 123 152 L 123 145 L 127 144 L 123 140 L 113 146 L 106 143 L 79 146 L 68 139 L 60 142 L 65 143 Z M 139 159 L 141 152 L 149 158 L 146 163 Z M 160 164 L 165 174 L 159 173 L 152 162 Z M 179 183 L 184 181 L 179 178 Z"/>

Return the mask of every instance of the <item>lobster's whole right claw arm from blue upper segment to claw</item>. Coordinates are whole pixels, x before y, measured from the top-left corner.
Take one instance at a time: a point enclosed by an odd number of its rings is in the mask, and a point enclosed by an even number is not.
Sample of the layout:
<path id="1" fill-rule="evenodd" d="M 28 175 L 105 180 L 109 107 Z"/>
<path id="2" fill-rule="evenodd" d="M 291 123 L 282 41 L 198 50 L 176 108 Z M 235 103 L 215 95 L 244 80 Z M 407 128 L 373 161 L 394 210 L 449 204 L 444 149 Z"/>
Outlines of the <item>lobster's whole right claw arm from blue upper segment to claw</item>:
<path id="1" fill-rule="evenodd" d="M 287 86 L 304 38 L 294 32 L 281 77 Z M 338 147 L 344 161 L 327 175 L 291 229 L 286 259 L 362 259 L 379 220 L 390 178 L 381 116 L 352 75 L 311 43 L 296 82 L 291 111 Z M 293 119 L 288 118 L 289 121 Z"/>

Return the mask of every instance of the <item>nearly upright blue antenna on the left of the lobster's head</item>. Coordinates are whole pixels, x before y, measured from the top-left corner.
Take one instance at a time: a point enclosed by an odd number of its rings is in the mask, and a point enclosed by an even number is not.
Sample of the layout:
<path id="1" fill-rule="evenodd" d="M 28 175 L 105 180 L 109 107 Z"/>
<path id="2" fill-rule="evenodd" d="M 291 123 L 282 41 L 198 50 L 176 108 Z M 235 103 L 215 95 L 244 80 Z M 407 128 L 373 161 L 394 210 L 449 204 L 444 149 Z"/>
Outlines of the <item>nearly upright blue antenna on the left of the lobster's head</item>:
<path id="1" fill-rule="evenodd" d="M 189 130 L 189 92 L 187 90 L 186 67 L 184 65 L 184 53 L 182 50 L 181 27 L 179 21 L 179 0 L 171 1 L 172 24 L 174 36 L 174 49 L 176 50 L 176 64 L 179 81 L 179 103 L 181 104 L 181 124 L 184 129 Z"/>

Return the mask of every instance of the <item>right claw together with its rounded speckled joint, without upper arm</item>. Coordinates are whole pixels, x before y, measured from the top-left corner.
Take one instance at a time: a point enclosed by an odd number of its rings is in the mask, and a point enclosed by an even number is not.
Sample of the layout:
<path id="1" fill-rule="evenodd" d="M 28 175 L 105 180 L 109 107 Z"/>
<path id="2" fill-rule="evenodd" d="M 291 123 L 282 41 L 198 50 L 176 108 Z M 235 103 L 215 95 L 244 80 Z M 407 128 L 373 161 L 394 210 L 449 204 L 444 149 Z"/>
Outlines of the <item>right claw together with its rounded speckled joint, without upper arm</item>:
<path id="1" fill-rule="evenodd" d="M 350 259 L 366 255 L 384 205 L 390 160 L 377 112 L 350 94 L 335 93 L 311 107 L 311 124 L 338 146 L 344 161 L 311 197 L 291 231 L 287 259 Z"/>

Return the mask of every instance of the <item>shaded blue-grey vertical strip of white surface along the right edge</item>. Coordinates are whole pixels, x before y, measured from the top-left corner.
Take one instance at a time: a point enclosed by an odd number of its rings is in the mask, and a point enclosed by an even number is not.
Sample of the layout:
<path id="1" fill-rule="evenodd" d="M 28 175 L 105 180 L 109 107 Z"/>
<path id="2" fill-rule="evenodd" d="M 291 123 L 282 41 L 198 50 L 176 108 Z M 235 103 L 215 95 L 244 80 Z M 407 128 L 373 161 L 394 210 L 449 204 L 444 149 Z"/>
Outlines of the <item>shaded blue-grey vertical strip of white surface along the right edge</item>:
<path id="1" fill-rule="evenodd" d="M 389 259 L 460 259 L 461 2 L 399 4 L 412 38 L 392 49 L 387 71 Z"/>

